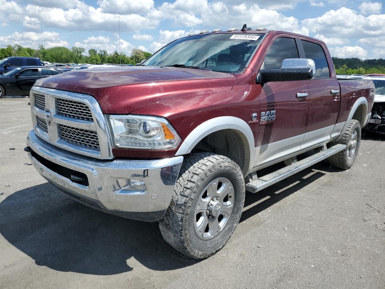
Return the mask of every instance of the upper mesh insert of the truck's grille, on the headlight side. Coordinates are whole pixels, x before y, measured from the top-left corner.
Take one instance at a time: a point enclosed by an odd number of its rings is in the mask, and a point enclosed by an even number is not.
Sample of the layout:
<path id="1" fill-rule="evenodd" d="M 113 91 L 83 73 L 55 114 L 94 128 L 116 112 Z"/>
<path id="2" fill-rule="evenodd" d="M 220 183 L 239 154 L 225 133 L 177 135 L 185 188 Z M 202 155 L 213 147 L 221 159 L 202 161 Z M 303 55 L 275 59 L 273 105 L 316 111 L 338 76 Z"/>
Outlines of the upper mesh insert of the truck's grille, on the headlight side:
<path id="1" fill-rule="evenodd" d="M 76 118 L 87 121 L 93 121 L 92 113 L 87 106 L 82 102 L 72 101 L 69 99 L 55 99 L 56 113 L 68 118 Z"/>

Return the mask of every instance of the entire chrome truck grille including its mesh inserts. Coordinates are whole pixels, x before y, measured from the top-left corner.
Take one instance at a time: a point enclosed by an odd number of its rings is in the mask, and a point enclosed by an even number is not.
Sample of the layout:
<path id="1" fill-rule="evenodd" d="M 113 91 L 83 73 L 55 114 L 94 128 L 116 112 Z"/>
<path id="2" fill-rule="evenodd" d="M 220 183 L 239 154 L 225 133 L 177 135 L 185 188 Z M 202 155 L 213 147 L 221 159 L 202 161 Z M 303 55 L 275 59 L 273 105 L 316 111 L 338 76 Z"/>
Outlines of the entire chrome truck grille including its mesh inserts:
<path id="1" fill-rule="evenodd" d="M 30 96 L 33 127 L 41 139 L 80 155 L 114 158 L 107 123 L 94 97 L 39 86 L 32 87 Z"/>

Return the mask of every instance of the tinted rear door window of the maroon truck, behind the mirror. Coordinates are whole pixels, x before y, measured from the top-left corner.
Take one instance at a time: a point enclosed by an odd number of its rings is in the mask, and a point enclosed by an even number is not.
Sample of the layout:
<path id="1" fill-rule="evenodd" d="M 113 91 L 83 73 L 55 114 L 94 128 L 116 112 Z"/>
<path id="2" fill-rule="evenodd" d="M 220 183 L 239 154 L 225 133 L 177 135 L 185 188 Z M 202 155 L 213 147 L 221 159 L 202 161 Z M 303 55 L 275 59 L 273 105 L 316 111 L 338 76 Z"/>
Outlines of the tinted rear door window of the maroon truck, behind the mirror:
<path id="1" fill-rule="evenodd" d="M 315 62 L 315 78 L 329 78 L 328 61 L 321 45 L 305 40 L 301 40 L 301 43 L 305 50 L 305 57 Z"/>

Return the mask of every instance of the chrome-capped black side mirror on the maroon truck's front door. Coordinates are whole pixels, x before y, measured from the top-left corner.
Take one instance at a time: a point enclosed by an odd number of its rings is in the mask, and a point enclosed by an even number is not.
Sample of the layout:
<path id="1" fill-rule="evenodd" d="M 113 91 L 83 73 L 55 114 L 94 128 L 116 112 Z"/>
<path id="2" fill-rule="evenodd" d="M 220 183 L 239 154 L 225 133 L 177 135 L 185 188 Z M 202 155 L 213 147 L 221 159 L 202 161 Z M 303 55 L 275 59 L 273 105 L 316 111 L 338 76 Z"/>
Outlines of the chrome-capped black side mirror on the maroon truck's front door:
<path id="1" fill-rule="evenodd" d="M 315 63 L 312 59 L 285 59 L 281 69 L 263 69 L 259 71 L 255 82 L 264 84 L 271 81 L 300 81 L 315 76 Z"/>

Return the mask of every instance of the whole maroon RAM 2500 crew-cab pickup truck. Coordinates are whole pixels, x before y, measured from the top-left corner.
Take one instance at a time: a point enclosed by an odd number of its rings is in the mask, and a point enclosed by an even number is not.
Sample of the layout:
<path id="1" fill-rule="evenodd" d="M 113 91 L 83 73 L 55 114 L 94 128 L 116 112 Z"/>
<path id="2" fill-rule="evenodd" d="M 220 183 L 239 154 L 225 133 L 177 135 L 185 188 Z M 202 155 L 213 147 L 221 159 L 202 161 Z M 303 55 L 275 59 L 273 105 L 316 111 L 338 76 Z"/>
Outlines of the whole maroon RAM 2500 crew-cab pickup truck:
<path id="1" fill-rule="evenodd" d="M 159 220 L 170 245 L 205 258 L 234 232 L 246 190 L 324 159 L 350 168 L 374 95 L 371 81 L 337 81 L 320 40 L 205 30 L 140 66 L 36 82 L 25 150 L 75 200 Z"/>

